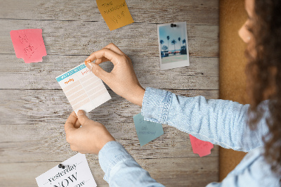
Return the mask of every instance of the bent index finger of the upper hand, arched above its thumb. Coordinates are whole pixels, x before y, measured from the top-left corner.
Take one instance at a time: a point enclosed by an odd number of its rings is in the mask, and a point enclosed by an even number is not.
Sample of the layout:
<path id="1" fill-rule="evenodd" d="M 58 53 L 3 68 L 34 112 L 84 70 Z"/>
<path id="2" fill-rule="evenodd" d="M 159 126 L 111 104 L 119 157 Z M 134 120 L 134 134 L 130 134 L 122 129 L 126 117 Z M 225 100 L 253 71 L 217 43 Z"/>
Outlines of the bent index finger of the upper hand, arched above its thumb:
<path id="1" fill-rule="evenodd" d="M 120 55 L 118 53 L 115 53 L 115 51 L 112 51 L 107 48 L 103 48 L 103 49 L 100 49 L 100 51 L 91 53 L 91 55 L 88 58 L 86 58 L 85 62 L 87 62 L 89 60 L 91 60 L 91 62 L 93 62 L 93 60 L 96 60 L 98 58 L 107 58 L 115 65 L 118 61 L 118 58 L 120 58 Z"/>

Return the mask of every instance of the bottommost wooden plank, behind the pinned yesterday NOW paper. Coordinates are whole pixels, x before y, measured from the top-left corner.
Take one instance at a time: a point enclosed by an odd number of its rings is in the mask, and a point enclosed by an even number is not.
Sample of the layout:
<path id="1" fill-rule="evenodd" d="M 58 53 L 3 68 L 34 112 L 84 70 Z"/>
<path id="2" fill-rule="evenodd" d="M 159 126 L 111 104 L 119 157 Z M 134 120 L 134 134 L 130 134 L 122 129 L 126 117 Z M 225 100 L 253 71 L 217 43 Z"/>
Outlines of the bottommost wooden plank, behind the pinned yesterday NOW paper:
<path id="1" fill-rule="evenodd" d="M 64 160 L 67 158 L 65 157 Z M 98 160 L 91 160 L 89 155 L 87 160 L 98 186 L 108 186 L 103 180 L 104 173 L 100 169 Z M 185 157 L 136 161 L 150 173 L 152 178 L 168 187 L 206 186 L 207 183 L 218 181 L 217 160 L 217 157 Z M 35 178 L 62 161 L 0 163 L 1 186 L 18 186 L 19 183 L 22 187 L 37 186 Z"/>

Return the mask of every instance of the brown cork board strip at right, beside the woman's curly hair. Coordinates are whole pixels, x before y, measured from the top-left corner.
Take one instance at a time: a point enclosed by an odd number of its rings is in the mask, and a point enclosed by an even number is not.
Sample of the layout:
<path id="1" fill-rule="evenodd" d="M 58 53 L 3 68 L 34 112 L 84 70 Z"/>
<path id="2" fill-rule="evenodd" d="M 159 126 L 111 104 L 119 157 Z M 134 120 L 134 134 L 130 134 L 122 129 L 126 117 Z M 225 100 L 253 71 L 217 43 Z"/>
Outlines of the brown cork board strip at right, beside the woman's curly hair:
<path id="1" fill-rule="evenodd" d="M 221 99 L 248 103 L 245 97 L 247 59 L 244 56 L 246 44 L 240 39 L 238 30 L 247 20 L 244 1 L 220 1 L 220 81 Z M 245 153 L 221 148 L 220 181 L 223 180 L 242 160 Z"/>

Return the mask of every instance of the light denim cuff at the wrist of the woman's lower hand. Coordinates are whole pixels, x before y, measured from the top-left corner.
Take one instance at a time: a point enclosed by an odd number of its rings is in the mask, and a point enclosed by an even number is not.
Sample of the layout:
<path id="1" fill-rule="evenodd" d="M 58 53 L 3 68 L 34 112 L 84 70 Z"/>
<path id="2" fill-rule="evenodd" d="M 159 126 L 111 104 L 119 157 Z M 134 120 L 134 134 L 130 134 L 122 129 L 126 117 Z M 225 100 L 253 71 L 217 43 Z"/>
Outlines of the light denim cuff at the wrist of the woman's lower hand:
<path id="1" fill-rule="evenodd" d="M 101 148 L 98 153 L 98 161 L 100 167 L 105 172 L 103 179 L 109 183 L 110 172 L 119 162 L 125 160 L 134 160 L 133 157 L 126 151 L 126 149 L 117 141 L 109 141 Z"/>

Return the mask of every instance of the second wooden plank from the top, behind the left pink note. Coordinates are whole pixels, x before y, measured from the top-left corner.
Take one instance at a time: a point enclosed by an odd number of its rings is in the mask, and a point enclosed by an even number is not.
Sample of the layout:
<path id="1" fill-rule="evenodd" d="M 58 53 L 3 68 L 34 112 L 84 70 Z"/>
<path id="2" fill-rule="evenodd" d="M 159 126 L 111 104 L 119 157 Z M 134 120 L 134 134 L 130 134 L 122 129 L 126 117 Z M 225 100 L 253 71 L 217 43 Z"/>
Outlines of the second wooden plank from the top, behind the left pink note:
<path id="1" fill-rule="evenodd" d="M 110 31 L 103 22 L 1 20 L 0 27 L 1 53 L 15 53 L 11 30 L 41 28 L 48 55 L 88 55 L 112 42 L 128 56 L 159 56 L 157 25 L 135 23 Z M 190 56 L 218 57 L 218 25 L 187 29 Z"/>

